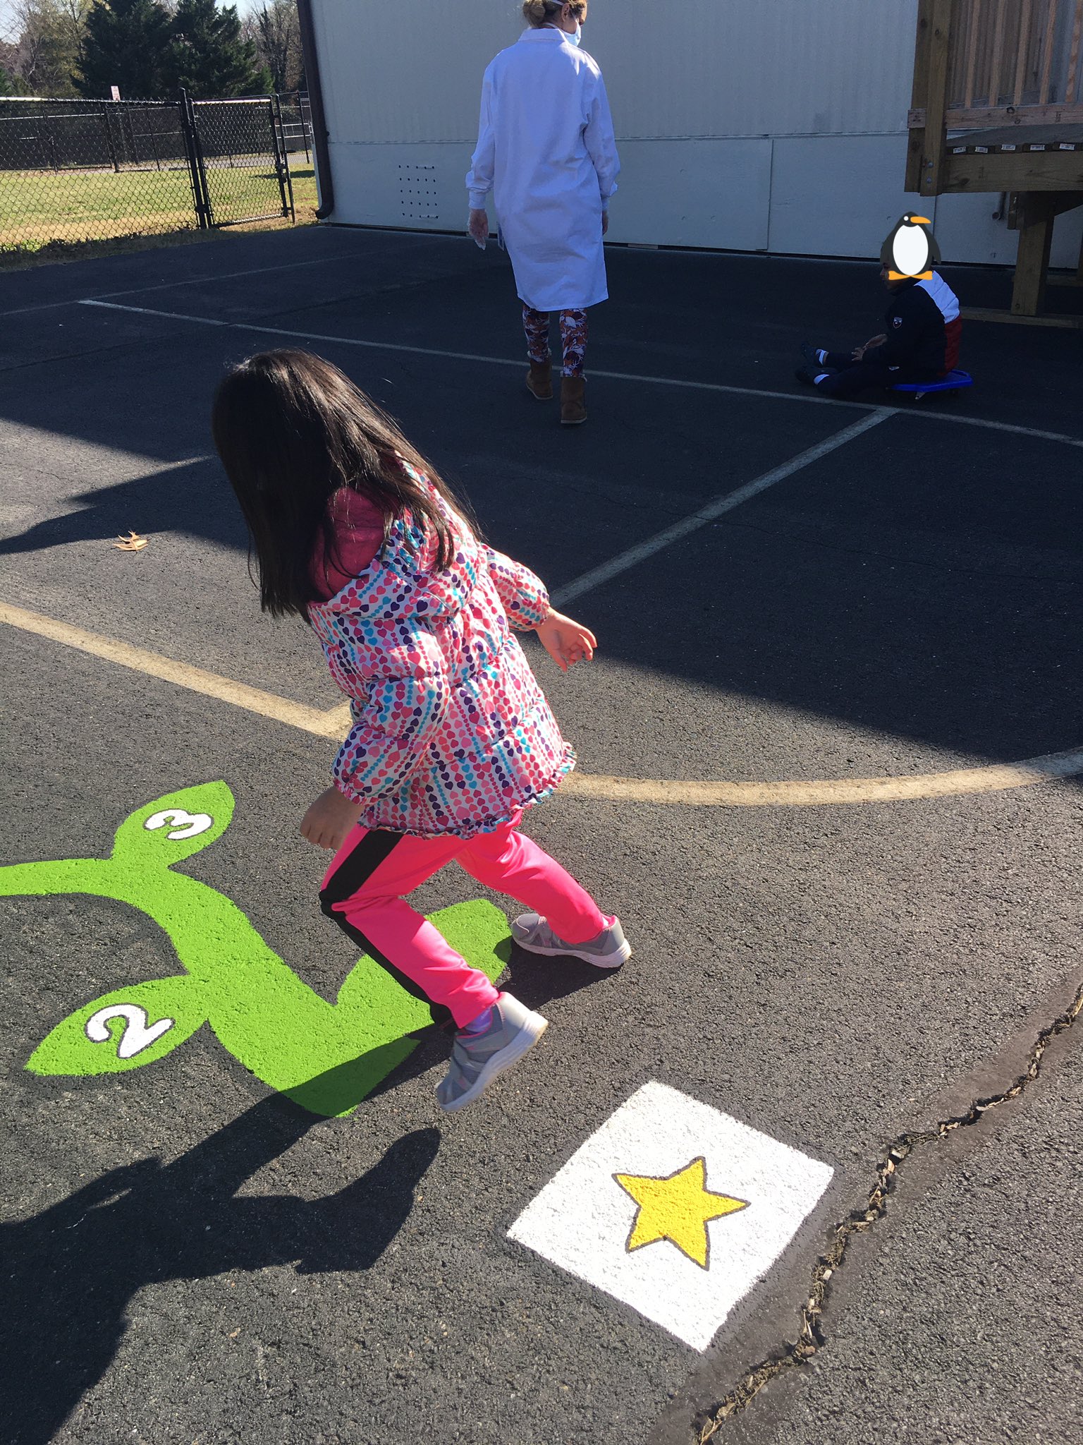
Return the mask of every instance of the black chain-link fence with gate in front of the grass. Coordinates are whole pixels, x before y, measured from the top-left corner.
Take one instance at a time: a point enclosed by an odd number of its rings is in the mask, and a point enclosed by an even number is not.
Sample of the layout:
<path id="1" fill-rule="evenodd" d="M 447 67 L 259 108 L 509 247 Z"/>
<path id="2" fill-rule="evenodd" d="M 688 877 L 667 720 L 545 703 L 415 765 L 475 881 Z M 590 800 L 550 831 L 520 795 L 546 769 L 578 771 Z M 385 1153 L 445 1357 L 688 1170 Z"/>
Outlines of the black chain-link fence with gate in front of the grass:
<path id="1" fill-rule="evenodd" d="M 293 214 L 276 97 L 0 97 L 0 263 Z"/>

